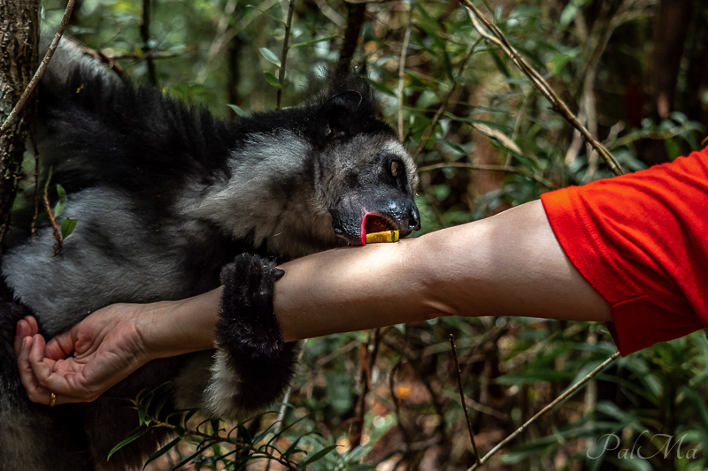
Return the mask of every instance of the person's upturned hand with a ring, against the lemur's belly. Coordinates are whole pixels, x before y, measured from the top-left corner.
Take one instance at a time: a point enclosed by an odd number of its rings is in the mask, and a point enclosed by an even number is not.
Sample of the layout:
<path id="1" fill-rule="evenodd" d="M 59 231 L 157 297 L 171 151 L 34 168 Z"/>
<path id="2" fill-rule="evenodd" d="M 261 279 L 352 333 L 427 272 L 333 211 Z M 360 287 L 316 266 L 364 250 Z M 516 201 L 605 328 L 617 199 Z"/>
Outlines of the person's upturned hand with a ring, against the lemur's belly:
<path id="1" fill-rule="evenodd" d="M 141 332 L 143 305 L 113 304 L 45 344 L 34 317 L 15 334 L 19 377 L 33 402 L 90 402 L 150 361 Z M 73 353 L 73 356 L 72 356 Z"/>

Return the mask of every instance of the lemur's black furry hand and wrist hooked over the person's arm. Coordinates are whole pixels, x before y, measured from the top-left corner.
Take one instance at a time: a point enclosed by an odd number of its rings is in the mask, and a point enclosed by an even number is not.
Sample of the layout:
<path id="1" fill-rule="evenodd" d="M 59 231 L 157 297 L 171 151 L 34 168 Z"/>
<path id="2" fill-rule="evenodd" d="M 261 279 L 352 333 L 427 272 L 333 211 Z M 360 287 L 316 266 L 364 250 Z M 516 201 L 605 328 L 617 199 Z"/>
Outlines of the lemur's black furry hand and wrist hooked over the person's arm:
<path id="1" fill-rule="evenodd" d="M 273 287 L 282 270 L 257 255 L 242 254 L 221 271 L 224 293 L 217 342 L 227 353 L 240 387 L 234 400 L 258 410 L 279 399 L 296 368 L 296 344 L 286 344 L 273 313 Z"/>

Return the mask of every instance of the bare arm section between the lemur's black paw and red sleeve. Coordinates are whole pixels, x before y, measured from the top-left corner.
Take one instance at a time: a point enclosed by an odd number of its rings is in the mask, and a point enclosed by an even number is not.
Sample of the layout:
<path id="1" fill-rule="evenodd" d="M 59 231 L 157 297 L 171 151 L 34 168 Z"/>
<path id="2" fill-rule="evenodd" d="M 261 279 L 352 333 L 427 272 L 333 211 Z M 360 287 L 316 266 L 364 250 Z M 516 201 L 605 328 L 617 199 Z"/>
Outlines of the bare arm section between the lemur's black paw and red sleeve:
<path id="1" fill-rule="evenodd" d="M 612 320 L 558 245 L 541 201 L 397 244 L 281 267 L 274 306 L 287 340 L 441 315 Z"/>

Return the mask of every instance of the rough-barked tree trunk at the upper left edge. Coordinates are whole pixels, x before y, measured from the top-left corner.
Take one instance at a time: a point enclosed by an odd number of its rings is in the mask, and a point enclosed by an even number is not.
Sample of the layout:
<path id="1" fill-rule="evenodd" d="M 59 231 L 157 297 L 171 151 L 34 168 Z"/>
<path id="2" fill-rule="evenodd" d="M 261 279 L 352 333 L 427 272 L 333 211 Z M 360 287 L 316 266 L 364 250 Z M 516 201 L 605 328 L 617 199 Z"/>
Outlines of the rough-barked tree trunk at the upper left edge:
<path id="1" fill-rule="evenodd" d="M 8 117 L 39 65 L 39 1 L 0 0 L 0 121 Z M 25 153 L 36 95 L 0 136 L 0 242 L 10 225 L 12 201 Z M 1 247 L 1 246 L 0 246 Z M 0 248 L 2 254 L 2 248 Z"/>

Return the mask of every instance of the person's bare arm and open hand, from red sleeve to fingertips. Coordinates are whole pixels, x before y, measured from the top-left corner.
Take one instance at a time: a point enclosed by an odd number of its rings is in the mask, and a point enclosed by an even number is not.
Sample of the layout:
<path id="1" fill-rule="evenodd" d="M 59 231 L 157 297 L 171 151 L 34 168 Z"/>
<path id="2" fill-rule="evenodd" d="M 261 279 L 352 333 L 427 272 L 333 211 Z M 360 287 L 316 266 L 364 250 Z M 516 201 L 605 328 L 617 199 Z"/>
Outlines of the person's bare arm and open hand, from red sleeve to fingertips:
<path id="1" fill-rule="evenodd" d="M 273 306 L 286 341 L 443 315 L 612 321 L 559 246 L 541 201 L 281 268 Z M 213 348 L 220 295 L 219 288 L 188 300 L 112 305 L 47 346 L 34 320 L 20 321 L 15 345 L 30 399 L 48 404 L 54 391 L 57 404 L 93 400 L 151 359 Z"/>

